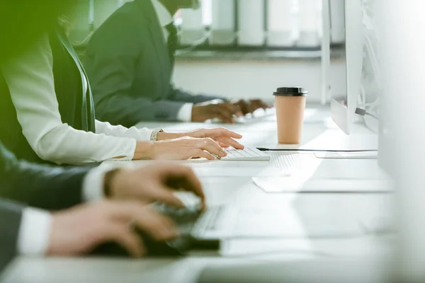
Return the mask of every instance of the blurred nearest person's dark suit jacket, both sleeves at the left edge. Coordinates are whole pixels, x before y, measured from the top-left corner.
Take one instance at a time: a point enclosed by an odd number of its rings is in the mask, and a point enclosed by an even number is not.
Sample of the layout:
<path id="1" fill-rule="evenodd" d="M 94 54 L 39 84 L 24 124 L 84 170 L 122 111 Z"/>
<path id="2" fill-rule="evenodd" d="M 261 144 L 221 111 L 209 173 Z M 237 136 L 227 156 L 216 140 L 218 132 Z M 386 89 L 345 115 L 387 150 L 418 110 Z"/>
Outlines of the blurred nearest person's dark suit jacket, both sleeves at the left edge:
<path id="1" fill-rule="evenodd" d="M 82 202 L 89 168 L 62 168 L 18 161 L 0 143 L 0 197 L 57 210 Z M 0 272 L 16 254 L 23 207 L 0 199 Z"/>

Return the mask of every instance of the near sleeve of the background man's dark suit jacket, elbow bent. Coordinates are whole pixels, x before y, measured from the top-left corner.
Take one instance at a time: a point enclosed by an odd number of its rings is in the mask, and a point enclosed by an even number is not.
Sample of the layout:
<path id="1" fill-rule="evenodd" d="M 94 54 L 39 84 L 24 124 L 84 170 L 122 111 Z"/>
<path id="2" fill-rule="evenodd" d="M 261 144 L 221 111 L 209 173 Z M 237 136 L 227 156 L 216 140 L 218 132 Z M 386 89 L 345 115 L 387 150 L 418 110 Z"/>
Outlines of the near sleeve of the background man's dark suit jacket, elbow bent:
<path id="1" fill-rule="evenodd" d="M 152 100 L 140 94 L 132 96 L 141 42 L 149 35 L 124 13 L 113 15 L 99 28 L 89 43 L 84 67 L 96 103 L 98 120 L 131 127 L 140 121 L 176 120 L 181 101 Z M 120 30 L 113 33 L 111 30 Z M 108 42 L 106 44 L 106 42 Z M 131 44 L 123 47 L 123 42 Z"/>

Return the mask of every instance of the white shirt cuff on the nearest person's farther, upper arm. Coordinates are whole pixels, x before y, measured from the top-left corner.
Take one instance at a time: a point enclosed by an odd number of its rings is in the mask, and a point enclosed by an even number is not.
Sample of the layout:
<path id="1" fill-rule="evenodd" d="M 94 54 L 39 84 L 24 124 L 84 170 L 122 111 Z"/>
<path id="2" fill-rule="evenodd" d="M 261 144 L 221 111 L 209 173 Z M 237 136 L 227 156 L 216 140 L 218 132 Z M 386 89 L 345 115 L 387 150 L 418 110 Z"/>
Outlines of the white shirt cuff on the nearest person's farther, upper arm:
<path id="1" fill-rule="evenodd" d="M 95 202 L 103 200 L 103 178 L 106 172 L 111 171 L 113 166 L 102 164 L 92 169 L 83 181 L 83 200 L 85 202 Z"/>

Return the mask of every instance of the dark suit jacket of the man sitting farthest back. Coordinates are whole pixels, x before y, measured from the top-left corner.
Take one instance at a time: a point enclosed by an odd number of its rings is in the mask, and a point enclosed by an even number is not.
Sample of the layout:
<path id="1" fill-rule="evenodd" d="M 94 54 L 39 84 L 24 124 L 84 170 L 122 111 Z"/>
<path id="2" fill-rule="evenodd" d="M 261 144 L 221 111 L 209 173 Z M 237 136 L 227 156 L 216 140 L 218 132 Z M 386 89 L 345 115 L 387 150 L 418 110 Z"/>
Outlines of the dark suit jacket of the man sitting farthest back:
<path id="1" fill-rule="evenodd" d="M 192 96 L 171 85 L 173 66 L 151 0 L 124 4 L 94 33 L 84 57 L 96 118 L 131 127 L 147 120 L 176 120 Z"/>

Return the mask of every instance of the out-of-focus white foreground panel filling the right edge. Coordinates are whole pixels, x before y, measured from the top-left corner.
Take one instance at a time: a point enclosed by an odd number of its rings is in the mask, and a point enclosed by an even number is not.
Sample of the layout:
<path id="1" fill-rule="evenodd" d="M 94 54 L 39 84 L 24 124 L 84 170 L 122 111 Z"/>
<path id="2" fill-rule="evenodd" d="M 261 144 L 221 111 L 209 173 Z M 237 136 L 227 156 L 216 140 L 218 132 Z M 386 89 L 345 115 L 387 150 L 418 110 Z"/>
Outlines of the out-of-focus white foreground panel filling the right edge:
<path id="1" fill-rule="evenodd" d="M 425 1 L 376 0 L 380 166 L 395 178 L 394 282 L 425 282 Z"/>

